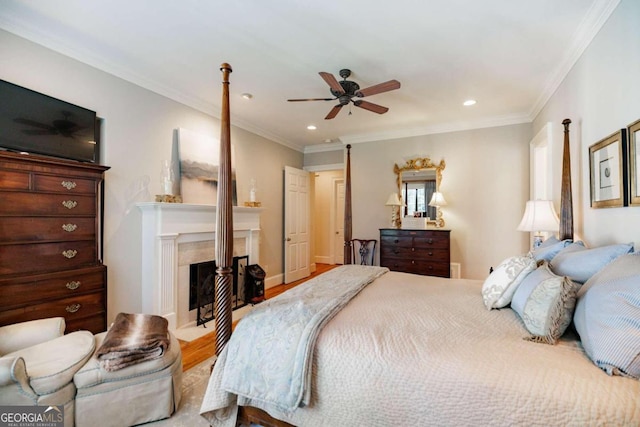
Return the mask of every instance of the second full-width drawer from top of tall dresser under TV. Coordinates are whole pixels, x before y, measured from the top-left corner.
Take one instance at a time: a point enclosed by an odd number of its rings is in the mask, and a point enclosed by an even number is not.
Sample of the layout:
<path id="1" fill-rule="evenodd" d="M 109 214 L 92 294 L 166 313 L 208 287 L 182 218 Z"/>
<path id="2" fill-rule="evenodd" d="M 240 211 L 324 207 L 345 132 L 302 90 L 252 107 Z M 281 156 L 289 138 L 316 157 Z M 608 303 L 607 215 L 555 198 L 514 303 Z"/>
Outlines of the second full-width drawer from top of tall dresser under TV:
<path id="1" fill-rule="evenodd" d="M 95 218 L 6 217 L 0 220 L 0 242 L 93 240 Z"/>

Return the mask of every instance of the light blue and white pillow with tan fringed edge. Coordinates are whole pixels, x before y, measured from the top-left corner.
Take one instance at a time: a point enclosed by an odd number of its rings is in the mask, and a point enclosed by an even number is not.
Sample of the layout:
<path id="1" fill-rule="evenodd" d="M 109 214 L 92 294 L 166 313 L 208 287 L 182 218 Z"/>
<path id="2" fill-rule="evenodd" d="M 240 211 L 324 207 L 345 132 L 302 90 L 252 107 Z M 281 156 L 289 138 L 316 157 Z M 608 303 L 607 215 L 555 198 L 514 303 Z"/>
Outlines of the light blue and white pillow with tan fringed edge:
<path id="1" fill-rule="evenodd" d="M 555 344 L 571 323 L 579 285 L 553 274 L 544 262 L 518 286 L 511 308 L 531 333 L 530 341 Z"/>

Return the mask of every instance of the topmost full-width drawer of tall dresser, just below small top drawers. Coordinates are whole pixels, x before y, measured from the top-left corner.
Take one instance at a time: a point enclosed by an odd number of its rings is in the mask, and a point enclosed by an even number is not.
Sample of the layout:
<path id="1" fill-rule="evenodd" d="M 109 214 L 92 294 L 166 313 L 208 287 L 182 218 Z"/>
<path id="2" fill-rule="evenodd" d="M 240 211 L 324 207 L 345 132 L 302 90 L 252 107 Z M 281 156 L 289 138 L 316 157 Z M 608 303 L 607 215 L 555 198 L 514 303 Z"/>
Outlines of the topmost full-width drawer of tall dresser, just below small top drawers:
<path id="1" fill-rule="evenodd" d="M 91 215 L 96 214 L 96 198 L 77 194 L 0 192 L 0 215 Z"/>

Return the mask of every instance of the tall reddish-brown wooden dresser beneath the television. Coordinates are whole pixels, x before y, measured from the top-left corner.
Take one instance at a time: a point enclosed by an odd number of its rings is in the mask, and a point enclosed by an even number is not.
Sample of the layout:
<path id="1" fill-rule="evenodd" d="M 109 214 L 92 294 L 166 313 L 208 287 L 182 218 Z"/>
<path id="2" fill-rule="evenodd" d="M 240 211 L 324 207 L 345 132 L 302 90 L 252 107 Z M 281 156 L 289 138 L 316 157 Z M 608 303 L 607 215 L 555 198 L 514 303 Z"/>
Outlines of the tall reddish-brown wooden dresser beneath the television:
<path id="1" fill-rule="evenodd" d="M 0 152 L 0 325 L 63 316 L 67 332 L 106 330 L 107 169 Z"/>

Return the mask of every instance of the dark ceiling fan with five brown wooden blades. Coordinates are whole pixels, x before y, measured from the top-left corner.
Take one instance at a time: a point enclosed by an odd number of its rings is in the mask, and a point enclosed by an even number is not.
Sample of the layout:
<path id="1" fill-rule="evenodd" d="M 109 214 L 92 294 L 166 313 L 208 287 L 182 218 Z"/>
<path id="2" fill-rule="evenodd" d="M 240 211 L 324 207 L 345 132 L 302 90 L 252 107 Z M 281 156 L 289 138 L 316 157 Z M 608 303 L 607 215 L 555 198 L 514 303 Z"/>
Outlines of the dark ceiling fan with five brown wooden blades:
<path id="1" fill-rule="evenodd" d="M 379 83 L 377 85 L 369 86 L 365 89 L 360 89 L 360 85 L 351 80 L 347 80 L 347 78 L 351 75 L 351 70 L 342 69 L 340 70 L 340 77 L 343 80 L 338 81 L 333 74 L 326 73 L 321 71 L 320 77 L 323 78 L 325 82 L 329 85 L 329 90 L 331 94 L 334 96 L 333 98 L 307 98 L 307 99 L 288 99 L 290 102 L 297 101 L 334 101 L 338 100 L 339 104 L 334 106 L 325 120 L 333 119 L 338 115 L 340 109 L 345 105 L 349 104 L 349 102 L 353 102 L 353 105 L 356 107 L 364 108 L 365 110 L 373 111 L 374 113 L 384 114 L 389 109 L 387 107 L 383 107 L 382 105 L 374 104 L 372 102 L 367 102 L 362 99 L 354 99 L 354 98 L 364 98 L 365 96 L 376 95 L 378 93 L 388 92 L 390 90 L 395 90 L 400 88 L 400 82 L 397 80 L 389 80 L 384 83 Z"/>

